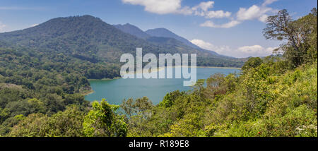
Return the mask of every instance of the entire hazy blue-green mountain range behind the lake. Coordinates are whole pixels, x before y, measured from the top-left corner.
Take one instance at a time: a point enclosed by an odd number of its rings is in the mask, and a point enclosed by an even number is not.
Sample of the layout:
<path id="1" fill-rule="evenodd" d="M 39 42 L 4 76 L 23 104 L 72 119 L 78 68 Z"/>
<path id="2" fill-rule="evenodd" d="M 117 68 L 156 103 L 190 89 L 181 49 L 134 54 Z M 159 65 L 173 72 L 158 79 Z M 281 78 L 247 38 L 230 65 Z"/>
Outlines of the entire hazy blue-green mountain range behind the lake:
<path id="1" fill-rule="evenodd" d="M 116 28 L 115 28 L 116 27 Z M 196 49 L 186 39 L 163 28 L 143 32 L 134 25 L 110 25 L 93 16 L 54 18 L 32 28 L 0 34 L 0 41 L 40 52 L 64 54 L 92 63 L 119 64 L 124 53 L 192 54 L 198 66 L 240 67 L 243 61 Z"/>

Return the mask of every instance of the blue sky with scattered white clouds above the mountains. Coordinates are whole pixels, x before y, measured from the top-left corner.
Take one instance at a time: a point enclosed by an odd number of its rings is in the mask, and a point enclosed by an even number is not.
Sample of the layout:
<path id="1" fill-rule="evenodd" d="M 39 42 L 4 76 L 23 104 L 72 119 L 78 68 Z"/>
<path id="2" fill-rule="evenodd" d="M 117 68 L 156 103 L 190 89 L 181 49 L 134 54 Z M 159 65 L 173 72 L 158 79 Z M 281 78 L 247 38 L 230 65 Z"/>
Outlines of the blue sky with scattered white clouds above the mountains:
<path id="1" fill-rule="evenodd" d="M 67 16 L 91 15 L 109 24 L 167 28 L 204 49 L 238 58 L 268 56 L 281 42 L 266 40 L 266 17 L 287 9 L 294 19 L 317 0 L 0 0 L 0 32 Z"/>

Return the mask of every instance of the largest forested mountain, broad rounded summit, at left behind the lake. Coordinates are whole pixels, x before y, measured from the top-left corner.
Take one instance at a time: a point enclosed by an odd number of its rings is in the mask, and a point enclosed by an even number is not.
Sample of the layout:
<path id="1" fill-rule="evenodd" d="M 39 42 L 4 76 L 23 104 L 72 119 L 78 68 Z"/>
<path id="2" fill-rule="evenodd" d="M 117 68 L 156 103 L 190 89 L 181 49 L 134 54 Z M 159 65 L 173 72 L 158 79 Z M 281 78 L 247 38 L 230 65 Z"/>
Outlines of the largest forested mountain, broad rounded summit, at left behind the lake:
<path id="1" fill-rule="evenodd" d="M 144 53 L 153 54 L 197 52 L 187 47 L 160 46 L 146 42 L 93 16 L 54 18 L 33 28 L 1 33 L 0 40 L 42 52 L 62 53 L 88 61 L 108 63 L 118 63 L 124 53 L 136 54 L 136 47 L 142 47 Z"/>

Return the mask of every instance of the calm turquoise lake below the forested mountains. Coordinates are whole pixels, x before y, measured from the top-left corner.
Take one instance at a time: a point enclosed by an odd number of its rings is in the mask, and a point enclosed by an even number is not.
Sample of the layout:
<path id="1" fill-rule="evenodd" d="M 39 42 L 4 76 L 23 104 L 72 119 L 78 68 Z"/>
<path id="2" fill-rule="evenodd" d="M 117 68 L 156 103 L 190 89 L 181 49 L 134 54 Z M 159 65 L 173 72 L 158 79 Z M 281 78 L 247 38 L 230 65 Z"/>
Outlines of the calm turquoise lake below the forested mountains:
<path id="1" fill-rule="evenodd" d="M 179 68 L 179 67 L 176 67 Z M 175 71 L 174 71 L 175 72 Z M 215 73 L 239 73 L 237 68 L 196 68 L 196 78 L 206 79 Z M 105 98 L 110 104 L 121 104 L 123 99 L 148 97 L 153 104 L 158 104 L 168 92 L 187 91 L 192 87 L 183 86 L 184 79 L 114 79 L 90 80 L 93 93 L 86 95 L 88 101 Z"/>

